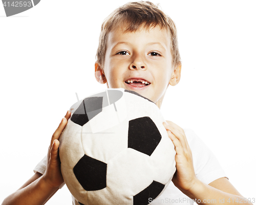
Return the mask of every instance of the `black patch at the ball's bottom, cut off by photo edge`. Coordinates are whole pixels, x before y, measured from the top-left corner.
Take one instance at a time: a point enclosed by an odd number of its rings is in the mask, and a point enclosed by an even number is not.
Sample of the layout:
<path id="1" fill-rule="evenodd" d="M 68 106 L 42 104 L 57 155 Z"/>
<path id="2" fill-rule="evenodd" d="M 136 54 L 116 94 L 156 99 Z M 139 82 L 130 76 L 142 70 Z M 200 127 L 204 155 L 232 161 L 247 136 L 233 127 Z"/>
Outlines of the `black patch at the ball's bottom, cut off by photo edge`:
<path id="1" fill-rule="evenodd" d="M 134 205 L 146 205 L 149 201 L 153 201 L 164 189 L 164 185 L 153 181 L 150 186 L 142 190 L 133 197 Z"/>

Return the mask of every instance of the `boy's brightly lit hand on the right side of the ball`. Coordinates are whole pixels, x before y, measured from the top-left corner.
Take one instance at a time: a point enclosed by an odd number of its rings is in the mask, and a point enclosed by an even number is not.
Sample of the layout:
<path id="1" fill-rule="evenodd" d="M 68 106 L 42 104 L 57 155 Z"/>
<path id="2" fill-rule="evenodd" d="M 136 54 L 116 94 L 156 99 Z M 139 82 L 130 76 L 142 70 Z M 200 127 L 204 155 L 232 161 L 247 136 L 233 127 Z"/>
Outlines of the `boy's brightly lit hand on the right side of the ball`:
<path id="1" fill-rule="evenodd" d="M 169 138 L 175 146 L 176 172 L 172 179 L 174 185 L 183 193 L 189 192 L 195 185 L 197 177 L 193 166 L 192 152 L 188 146 L 184 130 L 173 122 L 163 123 Z"/>

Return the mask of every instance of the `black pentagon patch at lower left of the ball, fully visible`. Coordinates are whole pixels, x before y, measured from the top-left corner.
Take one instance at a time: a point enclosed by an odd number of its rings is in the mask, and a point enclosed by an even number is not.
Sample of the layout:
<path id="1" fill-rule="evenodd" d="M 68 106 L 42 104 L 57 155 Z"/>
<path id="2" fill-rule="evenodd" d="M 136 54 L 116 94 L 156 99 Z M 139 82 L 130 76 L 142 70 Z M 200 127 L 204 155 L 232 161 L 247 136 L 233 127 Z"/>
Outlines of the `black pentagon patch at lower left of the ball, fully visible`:
<path id="1" fill-rule="evenodd" d="M 73 171 L 86 191 L 96 191 L 106 187 L 106 164 L 101 161 L 84 154 Z"/>

